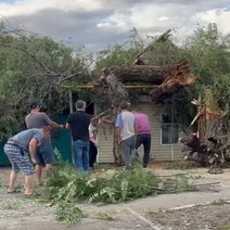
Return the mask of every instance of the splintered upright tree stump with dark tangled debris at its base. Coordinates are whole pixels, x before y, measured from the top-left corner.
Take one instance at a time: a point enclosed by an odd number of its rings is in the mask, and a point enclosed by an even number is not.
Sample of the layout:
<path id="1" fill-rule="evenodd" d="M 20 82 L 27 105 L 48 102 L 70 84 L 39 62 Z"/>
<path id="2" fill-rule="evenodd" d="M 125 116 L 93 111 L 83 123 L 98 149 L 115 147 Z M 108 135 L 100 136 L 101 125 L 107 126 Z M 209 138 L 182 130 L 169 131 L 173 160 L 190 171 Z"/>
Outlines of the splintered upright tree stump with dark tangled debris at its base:
<path id="1" fill-rule="evenodd" d="M 208 173 L 223 173 L 222 164 L 230 161 L 230 123 L 228 112 L 218 107 L 210 90 L 206 90 L 205 103 L 193 100 L 197 115 L 191 125 L 197 122 L 197 133 L 189 140 L 181 140 L 187 146 L 186 159 L 200 162 L 208 166 Z"/>

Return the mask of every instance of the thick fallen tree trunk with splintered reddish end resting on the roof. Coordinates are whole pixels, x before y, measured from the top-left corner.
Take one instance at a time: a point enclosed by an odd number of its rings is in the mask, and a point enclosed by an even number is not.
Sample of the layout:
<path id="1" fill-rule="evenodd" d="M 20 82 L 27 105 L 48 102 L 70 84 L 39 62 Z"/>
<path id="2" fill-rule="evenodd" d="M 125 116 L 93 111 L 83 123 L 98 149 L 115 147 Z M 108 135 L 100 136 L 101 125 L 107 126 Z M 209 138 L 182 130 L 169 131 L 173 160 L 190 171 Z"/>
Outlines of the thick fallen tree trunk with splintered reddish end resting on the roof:
<path id="1" fill-rule="evenodd" d="M 188 61 L 166 66 L 132 65 L 131 67 L 104 68 L 95 85 L 106 86 L 107 80 L 111 81 L 111 76 L 113 76 L 113 81 L 122 84 L 148 82 L 158 86 L 150 93 L 153 103 L 163 102 L 182 87 L 190 86 L 195 81 Z"/>

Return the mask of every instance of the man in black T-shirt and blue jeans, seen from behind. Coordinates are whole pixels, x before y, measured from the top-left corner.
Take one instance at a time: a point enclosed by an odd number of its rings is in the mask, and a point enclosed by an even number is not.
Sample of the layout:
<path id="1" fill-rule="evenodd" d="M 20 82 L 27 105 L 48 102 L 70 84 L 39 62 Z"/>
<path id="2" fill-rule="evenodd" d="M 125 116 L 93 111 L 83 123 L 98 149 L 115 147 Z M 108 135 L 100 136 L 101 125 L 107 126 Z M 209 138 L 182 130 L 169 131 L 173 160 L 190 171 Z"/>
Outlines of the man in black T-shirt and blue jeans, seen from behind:
<path id="1" fill-rule="evenodd" d="M 89 124 L 90 115 L 86 113 L 86 102 L 76 102 L 77 111 L 69 114 L 66 128 L 71 129 L 73 139 L 74 165 L 80 171 L 89 170 Z"/>

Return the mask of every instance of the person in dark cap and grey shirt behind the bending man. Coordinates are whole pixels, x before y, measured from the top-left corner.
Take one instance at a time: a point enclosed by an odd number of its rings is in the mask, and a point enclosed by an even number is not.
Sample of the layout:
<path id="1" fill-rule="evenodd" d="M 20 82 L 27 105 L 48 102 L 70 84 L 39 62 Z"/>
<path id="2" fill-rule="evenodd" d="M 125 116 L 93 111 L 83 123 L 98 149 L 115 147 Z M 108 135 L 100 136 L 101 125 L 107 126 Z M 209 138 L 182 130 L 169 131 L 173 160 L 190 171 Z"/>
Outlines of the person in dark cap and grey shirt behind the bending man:
<path id="1" fill-rule="evenodd" d="M 64 126 L 59 125 L 50 119 L 50 117 L 40 112 L 41 103 L 37 99 L 31 99 L 29 104 L 29 114 L 25 117 L 25 123 L 27 129 L 31 128 L 41 128 L 43 126 L 50 126 L 52 129 L 61 129 Z M 38 183 L 42 184 L 42 168 L 46 166 L 46 170 L 49 171 L 52 167 L 52 163 L 54 161 L 54 152 L 51 143 L 51 139 L 49 139 L 40 145 L 36 151 L 36 174 L 38 177 Z"/>

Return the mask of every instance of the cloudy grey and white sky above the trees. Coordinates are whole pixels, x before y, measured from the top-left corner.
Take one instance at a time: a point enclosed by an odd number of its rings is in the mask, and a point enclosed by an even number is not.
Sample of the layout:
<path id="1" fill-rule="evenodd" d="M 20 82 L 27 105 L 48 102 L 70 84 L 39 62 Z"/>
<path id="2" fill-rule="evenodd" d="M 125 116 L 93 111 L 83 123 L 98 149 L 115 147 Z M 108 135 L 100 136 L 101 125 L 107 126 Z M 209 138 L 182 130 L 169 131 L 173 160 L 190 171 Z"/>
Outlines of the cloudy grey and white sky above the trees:
<path id="1" fill-rule="evenodd" d="M 216 23 L 230 34 L 230 0 L 0 0 L 0 18 L 11 27 L 71 46 L 101 50 L 140 36 L 174 29 L 177 41 L 197 24 Z"/>

